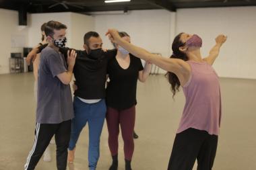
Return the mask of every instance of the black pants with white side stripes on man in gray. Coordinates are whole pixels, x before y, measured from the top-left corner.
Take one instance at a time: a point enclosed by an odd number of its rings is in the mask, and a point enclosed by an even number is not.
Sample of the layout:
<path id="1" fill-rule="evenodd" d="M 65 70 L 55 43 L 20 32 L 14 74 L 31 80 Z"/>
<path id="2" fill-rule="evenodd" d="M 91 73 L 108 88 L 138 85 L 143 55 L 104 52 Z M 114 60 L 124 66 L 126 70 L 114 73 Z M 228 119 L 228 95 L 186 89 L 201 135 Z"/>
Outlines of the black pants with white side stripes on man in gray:
<path id="1" fill-rule="evenodd" d="M 71 120 L 61 122 L 60 124 L 36 123 L 35 133 L 34 145 L 24 166 L 25 170 L 35 169 L 53 135 L 55 135 L 57 146 L 57 169 L 65 170 L 67 168 L 67 148 L 70 140 Z"/>

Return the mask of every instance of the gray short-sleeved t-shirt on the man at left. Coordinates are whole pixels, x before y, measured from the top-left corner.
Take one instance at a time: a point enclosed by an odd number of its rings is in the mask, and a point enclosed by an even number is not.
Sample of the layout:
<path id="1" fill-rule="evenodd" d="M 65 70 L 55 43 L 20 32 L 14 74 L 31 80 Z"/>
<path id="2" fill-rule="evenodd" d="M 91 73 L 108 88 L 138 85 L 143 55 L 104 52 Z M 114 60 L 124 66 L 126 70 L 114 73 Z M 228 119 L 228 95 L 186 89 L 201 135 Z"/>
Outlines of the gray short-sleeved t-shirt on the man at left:
<path id="1" fill-rule="evenodd" d="M 61 83 L 57 75 L 67 71 L 63 54 L 47 46 L 42 50 L 38 69 L 36 122 L 59 124 L 73 118 L 69 85 Z"/>

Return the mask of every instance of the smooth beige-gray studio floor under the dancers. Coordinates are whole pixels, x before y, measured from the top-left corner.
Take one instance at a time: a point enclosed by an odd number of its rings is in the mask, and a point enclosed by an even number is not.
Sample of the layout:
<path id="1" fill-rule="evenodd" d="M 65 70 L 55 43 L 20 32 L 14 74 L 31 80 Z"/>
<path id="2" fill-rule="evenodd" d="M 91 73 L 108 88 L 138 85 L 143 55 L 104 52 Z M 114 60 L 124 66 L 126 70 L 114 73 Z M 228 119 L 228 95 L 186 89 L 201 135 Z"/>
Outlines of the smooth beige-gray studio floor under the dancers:
<path id="1" fill-rule="evenodd" d="M 214 163 L 217 170 L 256 169 L 256 80 L 220 79 L 222 126 Z M 34 140 L 35 108 L 32 73 L 0 75 L 0 169 L 22 170 Z M 138 83 L 134 170 L 165 170 L 172 149 L 185 98 L 181 91 L 172 99 L 170 85 L 162 76 L 150 76 Z M 98 170 L 107 170 L 111 157 L 106 124 L 101 136 Z M 119 144 L 119 169 L 124 170 L 123 141 Z M 53 161 L 40 160 L 37 170 L 56 169 Z M 75 163 L 69 170 L 88 169 L 88 127 L 77 144 Z M 196 165 L 195 165 L 196 166 Z"/>

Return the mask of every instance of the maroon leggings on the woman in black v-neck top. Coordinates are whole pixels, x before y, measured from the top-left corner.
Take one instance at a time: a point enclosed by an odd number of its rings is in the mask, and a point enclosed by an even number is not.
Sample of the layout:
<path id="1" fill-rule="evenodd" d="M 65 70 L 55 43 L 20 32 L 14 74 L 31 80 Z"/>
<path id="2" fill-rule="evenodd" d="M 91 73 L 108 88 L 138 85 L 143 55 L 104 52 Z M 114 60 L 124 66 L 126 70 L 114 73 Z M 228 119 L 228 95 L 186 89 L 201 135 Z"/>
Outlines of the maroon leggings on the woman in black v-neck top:
<path id="1" fill-rule="evenodd" d="M 131 161 L 134 151 L 133 130 L 135 125 L 135 106 L 127 110 L 115 110 L 108 108 L 106 112 L 106 124 L 108 125 L 108 146 L 112 156 L 118 153 L 119 124 L 124 142 L 125 159 Z"/>

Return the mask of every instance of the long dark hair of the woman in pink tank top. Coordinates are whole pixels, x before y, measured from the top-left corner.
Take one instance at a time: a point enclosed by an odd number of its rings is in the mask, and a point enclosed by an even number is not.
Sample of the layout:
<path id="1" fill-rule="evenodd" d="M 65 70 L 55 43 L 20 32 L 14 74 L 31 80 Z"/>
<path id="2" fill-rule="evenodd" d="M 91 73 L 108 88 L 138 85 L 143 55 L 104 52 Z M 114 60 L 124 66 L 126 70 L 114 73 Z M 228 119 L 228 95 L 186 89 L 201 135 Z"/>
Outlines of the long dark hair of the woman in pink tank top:
<path id="1" fill-rule="evenodd" d="M 179 58 L 181 60 L 189 60 L 189 58 L 187 57 L 187 54 L 185 54 L 184 52 L 181 52 L 181 50 L 179 50 L 179 48 L 181 46 L 185 46 L 185 43 L 181 41 L 181 35 L 183 34 L 180 33 L 178 36 L 176 36 L 172 42 L 172 55 L 170 56 L 170 58 Z M 177 75 L 175 75 L 172 72 L 167 72 L 166 73 L 166 77 L 170 83 L 170 85 L 172 86 L 172 97 L 174 97 L 174 95 L 176 94 L 177 91 L 179 91 L 179 87 L 181 86 L 181 82 L 179 81 Z"/>

